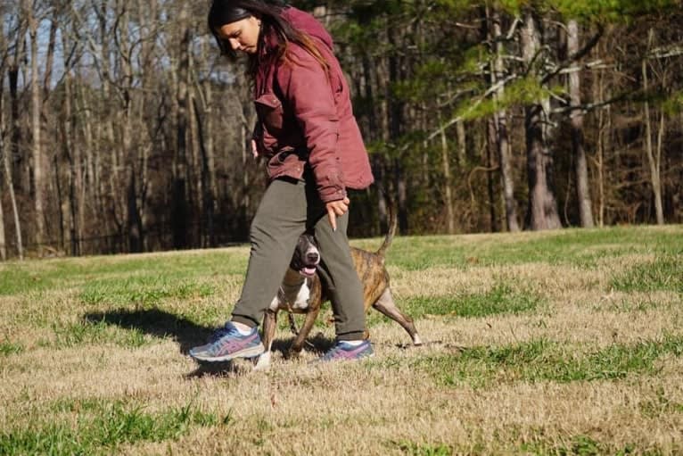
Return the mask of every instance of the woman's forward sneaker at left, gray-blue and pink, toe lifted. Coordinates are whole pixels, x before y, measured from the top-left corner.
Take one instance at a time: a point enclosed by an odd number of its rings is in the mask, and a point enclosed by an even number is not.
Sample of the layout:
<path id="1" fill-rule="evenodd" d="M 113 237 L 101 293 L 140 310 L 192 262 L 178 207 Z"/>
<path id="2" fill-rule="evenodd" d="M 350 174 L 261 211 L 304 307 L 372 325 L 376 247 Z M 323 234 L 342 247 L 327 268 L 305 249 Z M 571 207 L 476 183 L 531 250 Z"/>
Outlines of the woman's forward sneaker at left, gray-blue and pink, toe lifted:
<path id="1" fill-rule="evenodd" d="M 225 327 L 213 333 L 209 344 L 190 350 L 190 356 L 197 361 L 229 361 L 234 358 L 253 358 L 262 352 L 264 347 L 258 327 L 253 327 L 251 333 L 243 335 L 228 321 Z"/>

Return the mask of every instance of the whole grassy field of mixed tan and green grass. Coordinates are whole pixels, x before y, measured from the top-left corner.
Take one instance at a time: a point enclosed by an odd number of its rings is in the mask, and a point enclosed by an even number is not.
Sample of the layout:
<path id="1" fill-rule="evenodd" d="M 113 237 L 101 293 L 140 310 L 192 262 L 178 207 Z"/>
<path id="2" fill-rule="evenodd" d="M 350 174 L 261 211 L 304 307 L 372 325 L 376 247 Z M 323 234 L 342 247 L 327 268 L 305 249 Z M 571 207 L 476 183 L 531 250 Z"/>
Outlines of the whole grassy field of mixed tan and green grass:
<path id="1" fill-rule="evenodd" d="M 354 241 L 374 249 L 380 239 Z M 0 265 L 0 454 L 680 454 L 683 227 L 401 237 L 376 356 L 186 355 L 248 250 Z"/>

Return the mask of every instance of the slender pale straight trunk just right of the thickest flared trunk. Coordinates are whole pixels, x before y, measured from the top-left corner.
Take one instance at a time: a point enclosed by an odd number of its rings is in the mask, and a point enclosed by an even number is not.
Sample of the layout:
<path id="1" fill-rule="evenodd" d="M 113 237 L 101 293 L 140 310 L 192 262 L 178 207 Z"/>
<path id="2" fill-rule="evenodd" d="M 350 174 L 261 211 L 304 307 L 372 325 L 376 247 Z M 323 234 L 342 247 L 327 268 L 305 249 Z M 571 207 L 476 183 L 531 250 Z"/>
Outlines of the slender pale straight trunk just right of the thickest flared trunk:
<path id="1" fill-rule="evenodd" d="M 571 57 L 579 52 L 579 23 L 569 21 L 567 24 L 567 54 Z M 569 94 L 572 110 L 572 152 L 574 155 L 574 173 L 576 177 L 576 198 L 579 203 L 579 218 L 581 227 L 593 228 L 593 203 L 590 198 L 590 184 L 588 182 L 588 163 L 584 149 L 583 113 L 581 105 L 581 79 L 579 71 L 572 71 L 569 75 Z"/>

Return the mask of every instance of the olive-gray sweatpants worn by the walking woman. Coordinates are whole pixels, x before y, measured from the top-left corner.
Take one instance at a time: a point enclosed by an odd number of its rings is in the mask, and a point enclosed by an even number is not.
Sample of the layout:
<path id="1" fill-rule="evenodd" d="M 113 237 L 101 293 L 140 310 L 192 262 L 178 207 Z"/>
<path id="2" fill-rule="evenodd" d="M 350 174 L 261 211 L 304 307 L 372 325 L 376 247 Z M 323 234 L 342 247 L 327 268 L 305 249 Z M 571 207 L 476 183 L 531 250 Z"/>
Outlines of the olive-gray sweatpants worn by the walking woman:
<path id="1" fill-rule="evenodd" d="M 363 288 L 351 259 L 346 228 L 349 213 L 337 217 L 333 231 L 313 182 L 278 178 L 267 187 L 251 221 L 251 253 L 233 321 L 255 327 L 263 320 L 292 260 L 301 233 L 315 228 L 323 276 L 328 286 L 339 340 L 363 338 Z"/>

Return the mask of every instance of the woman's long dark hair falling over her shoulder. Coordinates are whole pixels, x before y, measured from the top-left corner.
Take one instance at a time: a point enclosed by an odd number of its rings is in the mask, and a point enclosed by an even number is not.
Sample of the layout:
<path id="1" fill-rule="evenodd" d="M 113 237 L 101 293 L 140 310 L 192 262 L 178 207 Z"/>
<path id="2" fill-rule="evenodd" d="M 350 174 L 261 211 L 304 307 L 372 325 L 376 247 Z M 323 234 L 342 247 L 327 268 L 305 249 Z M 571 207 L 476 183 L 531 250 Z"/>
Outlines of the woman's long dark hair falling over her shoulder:
<path id="1" fill-rule="evenodd" d="M 320 63 L 325 71 L 329 70 L 329 64 L 318 50 L 316 43 L 307 33 L 295 29 L 288 21 L 282 17 L 284 8 L 288 5 L 280 0 L 213 0 L 209 10 L 209 29 L 213 37 L 216 38 L 221 54 L 226 55 L 231 60 L 236 60 L 237 53 L 225 40 L 218 36 L 220 27 L 235 21 L 246 19 L 250 16 L 258 17 L 261 21 L 261 31 L 259 34 L 259 44 L 256 54 L 249 54 L 249 66 L 247 74 L 254 78 L 262 63 L 262 50 L 266 45 L 266 38 L 274 35 L 276 37 L 275 53 L 267 58 L 277 60 L 290 60 L 287 54 L 289 43 L 295 43 L 303 47 L 309 54 Z"/>

